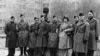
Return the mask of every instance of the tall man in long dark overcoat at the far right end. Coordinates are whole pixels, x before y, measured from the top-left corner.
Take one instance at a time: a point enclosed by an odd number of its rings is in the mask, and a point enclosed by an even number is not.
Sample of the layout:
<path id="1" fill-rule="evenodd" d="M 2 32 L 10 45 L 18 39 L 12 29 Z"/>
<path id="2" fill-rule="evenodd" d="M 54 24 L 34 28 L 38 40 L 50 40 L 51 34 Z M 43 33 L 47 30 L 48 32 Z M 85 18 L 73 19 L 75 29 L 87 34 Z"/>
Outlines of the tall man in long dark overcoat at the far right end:
<path id="1" fill-rule="evenodd" d="M 93 56 L 94 51 L 97 50 L 97 40 L 99 37 L 98 21 L 93 17 L 93 11 L 88 14 L 88 22 L 90 24 L 90 35 L 88 40 L 88 56 Z"/>

